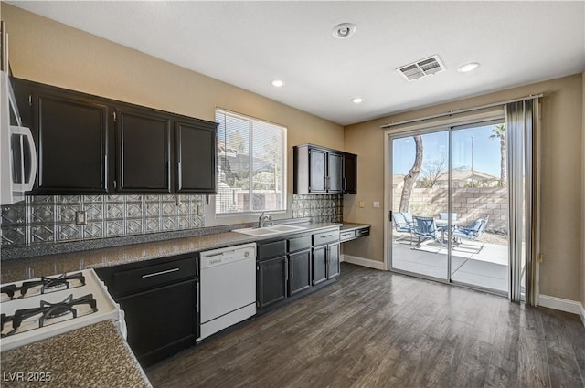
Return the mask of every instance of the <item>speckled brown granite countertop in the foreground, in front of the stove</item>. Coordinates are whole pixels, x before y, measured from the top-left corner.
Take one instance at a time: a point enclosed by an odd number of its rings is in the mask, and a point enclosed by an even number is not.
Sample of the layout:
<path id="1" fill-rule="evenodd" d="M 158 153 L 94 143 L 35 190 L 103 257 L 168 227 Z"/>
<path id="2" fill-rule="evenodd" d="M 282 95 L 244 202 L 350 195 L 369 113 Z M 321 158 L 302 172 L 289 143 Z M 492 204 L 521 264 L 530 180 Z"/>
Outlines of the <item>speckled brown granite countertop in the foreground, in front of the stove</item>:
<path id="1" fill-rule="evenodd" d="M 3 351 L 0 358 L 5 388 L 152 388 L 112 320 Z"/>

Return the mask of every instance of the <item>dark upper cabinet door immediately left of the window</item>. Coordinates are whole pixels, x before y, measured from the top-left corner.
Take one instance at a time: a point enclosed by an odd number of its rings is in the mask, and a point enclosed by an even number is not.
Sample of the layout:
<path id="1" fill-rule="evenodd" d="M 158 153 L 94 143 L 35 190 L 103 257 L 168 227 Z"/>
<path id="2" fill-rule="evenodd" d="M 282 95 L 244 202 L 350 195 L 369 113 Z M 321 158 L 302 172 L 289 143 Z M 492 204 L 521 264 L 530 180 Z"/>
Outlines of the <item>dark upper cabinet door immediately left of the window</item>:
<path id="1" fill-rule="evenodd" d="M 216 127 L 175 122 L 176 193 L 217 194 Z"/>

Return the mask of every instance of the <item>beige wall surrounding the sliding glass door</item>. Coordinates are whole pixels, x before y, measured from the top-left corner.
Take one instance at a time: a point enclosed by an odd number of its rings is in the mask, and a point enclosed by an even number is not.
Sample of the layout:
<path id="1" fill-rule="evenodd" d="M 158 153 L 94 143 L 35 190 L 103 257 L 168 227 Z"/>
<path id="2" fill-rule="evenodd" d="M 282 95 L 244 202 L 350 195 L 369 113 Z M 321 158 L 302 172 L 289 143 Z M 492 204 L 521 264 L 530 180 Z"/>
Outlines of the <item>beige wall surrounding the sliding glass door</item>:
<path id="1" fill-rule="evenodd" d="M 582 222 L 579 216 L 581 181 L 585 171 L 581 163 L 583 152 L 581 74 L 553 79 L 526 87 L 507 89 L 454 101 L 430 108 L 412 110 L 346 127 L 346 151 L 359 155 L 358 194 L 347 196 L 344 219 L 372 224 L 372 235 L 358 245 L 346 246 L 345 253 L 382 261 L 384 256 L 383 206 L 372 207 L 372 201 L 384 203 L 384 131 L 380 125 L 423 116 L 472 108 L 501 100 L 544 93 L 542 99 L 542 233 L 540 292 L 542 294 L 580 300 L 585 280 L 580 271 L 582 260 Z M 576 161 L 579 161 L 576 163 Z M 359 201 L 366 206 L 359 208 Z"/>

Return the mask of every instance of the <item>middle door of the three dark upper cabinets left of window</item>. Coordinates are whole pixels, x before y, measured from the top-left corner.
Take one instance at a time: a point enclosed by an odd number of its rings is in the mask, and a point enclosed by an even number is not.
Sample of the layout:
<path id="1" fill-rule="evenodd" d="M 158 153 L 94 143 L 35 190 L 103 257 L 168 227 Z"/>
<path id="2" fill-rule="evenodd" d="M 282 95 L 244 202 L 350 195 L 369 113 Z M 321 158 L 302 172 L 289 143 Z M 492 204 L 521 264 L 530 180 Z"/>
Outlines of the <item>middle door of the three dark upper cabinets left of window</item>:
<path id="1" fill-rule="evenodd" d="M 171 121 L 150 110 L 116 110 L 117 191 L 171 192 Z"/>

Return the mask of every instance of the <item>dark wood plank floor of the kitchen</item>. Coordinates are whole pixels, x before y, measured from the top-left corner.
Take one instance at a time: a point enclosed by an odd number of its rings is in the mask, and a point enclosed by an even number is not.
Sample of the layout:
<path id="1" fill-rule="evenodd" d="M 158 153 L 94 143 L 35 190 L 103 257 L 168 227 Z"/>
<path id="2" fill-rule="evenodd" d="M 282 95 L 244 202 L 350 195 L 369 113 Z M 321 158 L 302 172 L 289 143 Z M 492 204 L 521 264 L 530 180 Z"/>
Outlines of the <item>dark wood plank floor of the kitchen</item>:
<path id="1" fill-rule="evenodd" d="M 342 264 L 334 285 L 147 371 L 163 387 L 583 387 L 577 315 Z"/>

